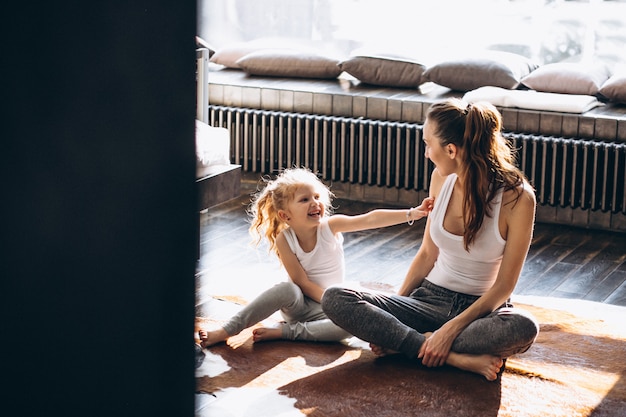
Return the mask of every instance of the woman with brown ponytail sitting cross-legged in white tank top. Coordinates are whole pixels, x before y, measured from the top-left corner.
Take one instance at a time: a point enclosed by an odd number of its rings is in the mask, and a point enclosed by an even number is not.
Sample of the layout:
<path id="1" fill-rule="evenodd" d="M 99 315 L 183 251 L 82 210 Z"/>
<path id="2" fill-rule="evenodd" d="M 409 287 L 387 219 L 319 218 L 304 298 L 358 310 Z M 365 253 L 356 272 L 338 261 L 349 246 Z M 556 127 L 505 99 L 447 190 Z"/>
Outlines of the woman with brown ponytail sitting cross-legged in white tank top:
<path id="1" fill-rule="evenodd" d="M 509 304 L 530 247 L 535 195 L 513 163 L 502 117 L 488 103 L 431 106 L 426 157 L 435 204 L 397 295 L 329 288 L 327 316 L 378 355 L 404 353 L 497 379 L 503 359 L 538 334 Z"/>

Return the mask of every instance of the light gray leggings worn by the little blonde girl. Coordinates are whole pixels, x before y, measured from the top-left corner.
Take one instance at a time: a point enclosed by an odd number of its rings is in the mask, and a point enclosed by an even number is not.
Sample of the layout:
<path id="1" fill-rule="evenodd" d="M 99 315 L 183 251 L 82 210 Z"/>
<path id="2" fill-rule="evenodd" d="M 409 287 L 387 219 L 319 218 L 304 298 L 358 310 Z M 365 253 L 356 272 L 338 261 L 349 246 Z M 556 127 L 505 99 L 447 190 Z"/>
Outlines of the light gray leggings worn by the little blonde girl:
<path id="1" fill-rule="evenodd" d="M 320 303 L 290 281 L 261 293 L 223 327 L 233 336 L 279 310 L 285 320 L 281 325 L 283 339 L 335 342 L 351 336 L 326 317 Z"/>

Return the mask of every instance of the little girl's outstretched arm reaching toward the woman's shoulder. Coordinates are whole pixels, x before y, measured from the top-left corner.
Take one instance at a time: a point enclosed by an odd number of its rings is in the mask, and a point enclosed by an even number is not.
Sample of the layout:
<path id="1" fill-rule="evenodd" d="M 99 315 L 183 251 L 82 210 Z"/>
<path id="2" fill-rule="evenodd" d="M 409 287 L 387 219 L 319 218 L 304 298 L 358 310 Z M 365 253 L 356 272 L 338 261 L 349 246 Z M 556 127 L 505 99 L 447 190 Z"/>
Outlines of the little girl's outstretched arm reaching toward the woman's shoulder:
<path id="1" fill-rule="evenodd" d="M 427 197 L 418 207 L 408 210 L 403 209 L 376 209 L 364 214 L 348 216 L 335 214 L 328 219 L 328 224 L 333 233 L 355 232 L 358 230 L 377 229 L 379 227 L 392 226 L 407 222 L 412 224 L 433 209 L 434 199 Z"/>

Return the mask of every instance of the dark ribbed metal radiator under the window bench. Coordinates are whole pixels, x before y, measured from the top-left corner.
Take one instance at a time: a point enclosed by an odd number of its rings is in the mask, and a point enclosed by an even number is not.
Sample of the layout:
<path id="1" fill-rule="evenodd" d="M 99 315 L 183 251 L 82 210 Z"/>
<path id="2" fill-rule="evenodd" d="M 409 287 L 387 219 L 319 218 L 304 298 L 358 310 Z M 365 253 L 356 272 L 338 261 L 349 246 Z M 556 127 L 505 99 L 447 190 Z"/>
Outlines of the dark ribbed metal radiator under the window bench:
<path id="1" fill-rule="evenodd" d="M 231 134 L 244 172 L 305 166 L 328 181 L 426 191 L 432 163 L 422 126 L 227 106 L 209 106 Z M 626 213 L 626 144 L 505 133 L 542 205 Z"/>

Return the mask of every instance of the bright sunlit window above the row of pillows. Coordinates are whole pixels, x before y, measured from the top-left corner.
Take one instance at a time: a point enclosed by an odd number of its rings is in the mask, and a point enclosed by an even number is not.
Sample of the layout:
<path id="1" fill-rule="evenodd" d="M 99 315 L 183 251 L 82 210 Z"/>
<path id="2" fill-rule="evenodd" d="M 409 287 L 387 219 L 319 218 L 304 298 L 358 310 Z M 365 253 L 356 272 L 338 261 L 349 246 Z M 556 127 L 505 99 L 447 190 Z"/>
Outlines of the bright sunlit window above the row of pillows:
<path id="1" fill-rule="evenodd" d="M 442 55 L 489 48 L 540 64 L 626 64 L 626 0 L 198 0 L 198 32 L 216 48 L 258 38 Z"/>

